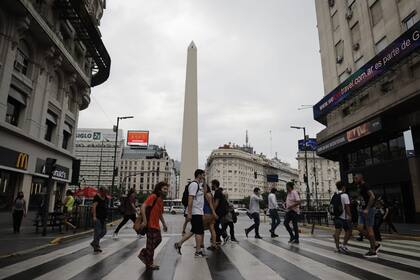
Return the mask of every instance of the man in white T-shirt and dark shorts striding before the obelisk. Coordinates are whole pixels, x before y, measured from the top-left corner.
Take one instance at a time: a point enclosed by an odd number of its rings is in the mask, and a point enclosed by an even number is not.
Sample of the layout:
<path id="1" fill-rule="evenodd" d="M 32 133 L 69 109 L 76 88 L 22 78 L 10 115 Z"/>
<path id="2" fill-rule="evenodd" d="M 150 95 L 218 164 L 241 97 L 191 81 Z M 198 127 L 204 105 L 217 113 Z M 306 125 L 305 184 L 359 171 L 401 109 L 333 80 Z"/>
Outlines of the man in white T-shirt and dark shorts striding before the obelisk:
<path id="1" fill-rule="evenodd" d="M 195 236 L 195 254 L 197 258 L 205 257 L 206 255 L 201 250 L 204 247 L 204 226 L 203 226 L 203 208 L 204 208 L 204 191 L 203 183 L 205 178 L 205 172 L 202 169 L 197 169 L 194 172 L 195 180 L 192 181 L 188 186 L 188 208 L 187 208 L 187 219 L 191 222 L 191 231 L 184 234 L 179 242 L 174 244 L 174 247 L 178 254 L 181 255 L 182 244 L 190 239 L 193 235 Z"/>

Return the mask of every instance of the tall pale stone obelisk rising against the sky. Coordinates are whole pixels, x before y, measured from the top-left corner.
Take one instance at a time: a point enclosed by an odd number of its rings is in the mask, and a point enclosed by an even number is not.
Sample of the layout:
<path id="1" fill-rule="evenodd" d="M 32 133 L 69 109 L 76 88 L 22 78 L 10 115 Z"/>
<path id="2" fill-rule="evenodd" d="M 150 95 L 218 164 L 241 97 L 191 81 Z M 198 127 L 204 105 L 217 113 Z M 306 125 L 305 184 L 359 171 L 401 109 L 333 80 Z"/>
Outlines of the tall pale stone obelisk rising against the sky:
<path id="1" fill-rule="evenodd" d="M 187 52 L 179 198 L 182 198 L 185 185 L 194 179 L 194 171 L 198 168 L 197 107 L 197 47 L 192 41 Z"/>

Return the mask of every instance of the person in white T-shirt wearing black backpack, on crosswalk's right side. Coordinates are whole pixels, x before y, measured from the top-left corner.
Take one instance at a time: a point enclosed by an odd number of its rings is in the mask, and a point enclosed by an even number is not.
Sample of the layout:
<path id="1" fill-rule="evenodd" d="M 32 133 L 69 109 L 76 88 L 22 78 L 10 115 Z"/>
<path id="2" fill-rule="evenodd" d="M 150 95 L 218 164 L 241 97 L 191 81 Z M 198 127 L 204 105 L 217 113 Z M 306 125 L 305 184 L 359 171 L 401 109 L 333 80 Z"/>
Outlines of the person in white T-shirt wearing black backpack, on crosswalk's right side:
<path id="1" fill-rule="evenodd" d="M 338 181 L 336 184 L 337 192 L 331 198 L 331 204 L 333 206 L 333 216 L 334 216 L 334 241 L 336 252 L 338 253 L 348 253 L 349 249 L 347 247 L 352 234 L 352 215 L 350 210 L 350 198 L 346 193 L 346 187 L 341 182 Z M 340 235 L 341 231 L 344 230 L 344 240 L 343 245 L 340 246 Z"/>

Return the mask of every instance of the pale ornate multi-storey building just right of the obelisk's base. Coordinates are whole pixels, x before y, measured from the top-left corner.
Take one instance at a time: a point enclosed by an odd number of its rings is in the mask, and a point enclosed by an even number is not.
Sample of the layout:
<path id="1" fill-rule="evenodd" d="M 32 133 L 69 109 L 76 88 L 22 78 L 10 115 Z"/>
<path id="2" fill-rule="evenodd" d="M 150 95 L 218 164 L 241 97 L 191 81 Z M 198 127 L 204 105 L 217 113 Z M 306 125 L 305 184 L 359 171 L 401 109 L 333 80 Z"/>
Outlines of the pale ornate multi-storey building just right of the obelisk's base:
<path id="1" fill-rule="evenodd" d="M 217 179 L 229 199 L 239 202 L 252 194 L 255 187 L 263 192 L 271 188 L 286 189 L 288 181 L 297 181 L 298 172 L 279 159 L 256 154 L 248 144 L 227 144 L 213 150 L 206 164 L 207 181 Z M 273 178 L 268 182 L 267 176 Z"/>

